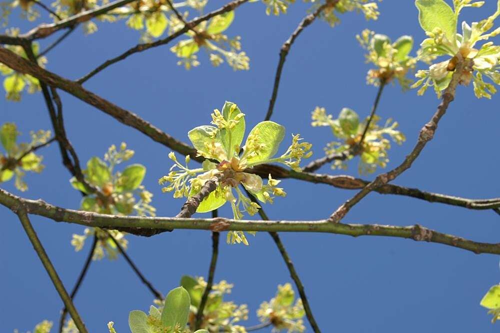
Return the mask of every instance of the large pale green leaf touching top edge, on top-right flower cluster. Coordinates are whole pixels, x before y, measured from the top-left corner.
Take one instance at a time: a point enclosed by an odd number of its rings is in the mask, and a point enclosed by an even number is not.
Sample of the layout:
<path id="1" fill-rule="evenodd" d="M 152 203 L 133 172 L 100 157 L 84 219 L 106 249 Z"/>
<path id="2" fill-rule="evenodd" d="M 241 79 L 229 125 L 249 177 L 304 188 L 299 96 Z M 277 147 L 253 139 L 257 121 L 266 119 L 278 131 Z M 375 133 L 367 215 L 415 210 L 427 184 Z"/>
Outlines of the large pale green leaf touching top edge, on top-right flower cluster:
<path id="1" fill-rule="evenodd" d="M 418 22 L 426 32 L 440 28 L 448 40 L 454 41 L 456 36 L 455 14 L 451 7 L 443 0 L 416 0 L 418 8 Z"/>

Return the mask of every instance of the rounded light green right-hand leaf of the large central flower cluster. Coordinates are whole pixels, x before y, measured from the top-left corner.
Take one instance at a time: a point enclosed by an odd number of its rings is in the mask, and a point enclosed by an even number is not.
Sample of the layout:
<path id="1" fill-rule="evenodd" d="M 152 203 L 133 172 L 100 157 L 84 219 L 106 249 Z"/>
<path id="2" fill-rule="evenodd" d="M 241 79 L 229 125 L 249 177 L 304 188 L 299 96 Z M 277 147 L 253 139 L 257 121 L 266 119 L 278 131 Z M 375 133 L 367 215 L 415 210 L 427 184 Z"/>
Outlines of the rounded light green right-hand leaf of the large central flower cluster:
<path id="1" fill-rule="evenodd" d="M 273 157 L 278 151 L 279 144 L 284 138 L 284 127 L 272 121 L 263 121 L 255 125 L 255 127 L 248 134 L 254 136 L 254 143 L 262 145 L 262 148 L 257 151 L 255 156 L 247 159 L 248 164 L 255 164 L 265 161 Z M 246 139 L 245 147 L 248 144 Z"/>

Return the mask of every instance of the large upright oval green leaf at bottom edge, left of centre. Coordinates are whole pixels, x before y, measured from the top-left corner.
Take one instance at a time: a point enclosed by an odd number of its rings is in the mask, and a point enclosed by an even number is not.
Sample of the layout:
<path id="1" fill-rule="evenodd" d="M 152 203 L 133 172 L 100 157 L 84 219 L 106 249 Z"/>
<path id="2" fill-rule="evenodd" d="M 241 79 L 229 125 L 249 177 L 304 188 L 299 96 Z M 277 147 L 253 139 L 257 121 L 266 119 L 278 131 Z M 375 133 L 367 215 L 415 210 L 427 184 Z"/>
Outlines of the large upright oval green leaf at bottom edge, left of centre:
<path id="1" fill-rule="evenodd" d="M 163 327 L 178 327 L 184 329 L 189 314 L 189 293 L 182 287 L 170 290 L 165 298 L 165 306 L 161 312 L 161 324 Z"/>

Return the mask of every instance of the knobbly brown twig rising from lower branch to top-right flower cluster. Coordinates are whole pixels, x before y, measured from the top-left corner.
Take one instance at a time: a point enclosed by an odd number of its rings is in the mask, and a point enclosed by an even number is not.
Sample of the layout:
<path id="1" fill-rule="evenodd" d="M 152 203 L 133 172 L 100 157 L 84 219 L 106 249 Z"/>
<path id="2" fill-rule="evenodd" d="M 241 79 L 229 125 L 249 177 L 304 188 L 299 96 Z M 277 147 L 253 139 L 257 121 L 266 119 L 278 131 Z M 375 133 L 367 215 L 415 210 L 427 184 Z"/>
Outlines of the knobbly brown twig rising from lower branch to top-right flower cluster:
<path id="1" fill-rule="evenodd" d="M 375 190 L 376 188 L 382 185 L 387 184 L 389 181 L 395 179 L 397 176 L 399 176 L 401 173 L 403 173 L 405 170 L 411 167 L 413 161 L 420 155 L 420 152 L 423 150 L 426 144 L 434 137 L 434 133 L 437 129 L 437 124 L 439 123 L 439 120 L 446 113 L 446 109 L 448 108 L 449 104 L 454 100 L 456 87 L 460 80 L 460 76 L 462 75 L 462 71 L 466 66 L 468 67 L 468 64 L 465 64 L 465 61 L 463 59 L 460 59 L 456 66 L 455 72 L 451 77 L 451 81 L 448 85 L 448 88 L 446 88 L 446 90 L 443 93 L 442 101 L 437 107 L 436 113 L 432 116 L 429 122 L 425 124 L 425 126 L 420 130 L 415 147 L 408 155 L 406 155 L 404 161 L 393 170 L 378 175 L 374 181 L 366 185 L 351 199 L 345 201 L 342 205 L 340 205 L 337 208 L 337 210 L 335 210 L 333 214 L 331 214 L 329 218 L 330 221 L 335 223 L 339 222 L 345 216 L 345 214 L 347 214 L 347 212 L 355 204 L 361 201 L 368 193 L 370 193 L 371 191 Z"/>

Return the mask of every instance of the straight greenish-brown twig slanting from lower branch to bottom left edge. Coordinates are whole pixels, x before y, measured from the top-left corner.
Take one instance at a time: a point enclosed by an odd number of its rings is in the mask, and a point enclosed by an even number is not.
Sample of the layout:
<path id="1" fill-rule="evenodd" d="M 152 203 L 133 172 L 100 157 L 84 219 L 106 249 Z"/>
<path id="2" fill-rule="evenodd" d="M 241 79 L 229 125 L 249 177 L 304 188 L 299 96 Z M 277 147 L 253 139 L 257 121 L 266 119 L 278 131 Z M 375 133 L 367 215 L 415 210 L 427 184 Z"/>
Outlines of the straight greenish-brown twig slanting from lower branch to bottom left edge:
<path id="1" fill-rule="evenodd" d="M 36 254 L 38 254 L 38 257 L 40 258 L 43 267 L 45 267 L 45 270 L 47 271 L 50 280 L 52 280 L 55 289 L 59 293 L 62 302 L 67 307 L 69 314 L 71 315 L 71 318 L 73 319 L 74 324 L 76 325 L 76 328 L 78 328 L 78 331 L 80 333 L 88 333 L 85 324 L 81 320 L 78 311 L 74 307 L 71 297 L 69 297 L 69 295 L 67 294 L 67 291 L 64 288 L 64 285 L 62 284 L 62 281 L 60 280 L 59 276 L 57 275 L 57 272 L 55 271 L 52 262 L 50 262 L 50 259 L 48 258 L 48 255 L 45 252 L 43 245 L 41 245 L 41 242 L 38 239 L 38 236 L 36 235 L 36 232 L 34 231 L 31 222 L 29 221 L 27 212 L 21 208 L 16 212 L 16 214 L 19 217 L 19 220 L 21 221 L 22 227 L 24 228 L 24 231 L 26 232 L 29 241 L 31 242 L 34 250 L 36 251 Z"/>

